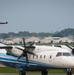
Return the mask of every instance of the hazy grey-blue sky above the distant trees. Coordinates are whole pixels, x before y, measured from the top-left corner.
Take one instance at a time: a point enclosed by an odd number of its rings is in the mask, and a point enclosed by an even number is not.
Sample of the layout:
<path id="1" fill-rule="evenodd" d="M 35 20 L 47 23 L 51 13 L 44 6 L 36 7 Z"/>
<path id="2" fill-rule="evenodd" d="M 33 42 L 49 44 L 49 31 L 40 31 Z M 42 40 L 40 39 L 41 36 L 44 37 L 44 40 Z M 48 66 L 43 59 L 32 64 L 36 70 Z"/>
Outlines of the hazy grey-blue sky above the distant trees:
<path id="1" fill-rule="evenodd" d="M 0 33 L 74 28 L 74 0 L 0 0 Z"/>

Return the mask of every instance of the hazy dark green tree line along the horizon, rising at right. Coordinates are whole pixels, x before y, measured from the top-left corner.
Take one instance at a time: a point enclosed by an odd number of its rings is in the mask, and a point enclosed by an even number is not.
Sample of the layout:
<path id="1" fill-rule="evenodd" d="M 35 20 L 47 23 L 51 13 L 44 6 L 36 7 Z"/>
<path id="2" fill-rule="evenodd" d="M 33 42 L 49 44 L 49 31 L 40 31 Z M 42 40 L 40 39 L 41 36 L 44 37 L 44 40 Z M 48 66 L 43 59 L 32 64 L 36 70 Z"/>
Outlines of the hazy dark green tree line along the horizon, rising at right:
<path id="1" fill-rule="evenodd" d="M 21 37 L 21 36 L 36 36 L 36 37 L 48 37 L 48 36 L 53 36 L 53 37 L 64 37 L 68 35 L 74 35 L 74 29 L 73 28 L 67 28 L 58 32 L 54 33 L 45 33 L 45 32 L 28 32 L 28 31 L 19 31 L 18 33 L 15 32 L 9 32 L 9 33 L 0 33 L 0 39 L 6 39 L 8 37 Z"/>

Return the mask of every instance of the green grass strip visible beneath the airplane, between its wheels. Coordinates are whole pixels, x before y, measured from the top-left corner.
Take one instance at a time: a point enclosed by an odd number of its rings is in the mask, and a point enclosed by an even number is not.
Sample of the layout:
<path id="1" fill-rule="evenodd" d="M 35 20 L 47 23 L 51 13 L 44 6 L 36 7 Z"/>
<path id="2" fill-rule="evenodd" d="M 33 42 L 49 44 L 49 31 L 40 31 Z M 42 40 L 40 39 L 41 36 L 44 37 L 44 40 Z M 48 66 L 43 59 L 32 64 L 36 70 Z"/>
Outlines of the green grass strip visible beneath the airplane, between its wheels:
<path id="1" fill-rule="evenodd" d="M 63 70 L 61 69 L 50 69 L 48 70 L 49 73 L 65 73 Z M 10 68 L 10 67 L 0 67 L 0 73 L 19 73 L 18 70 L 16 70 L 15 68 Z M 27 73 L 40 73 L 40 71 L 29 71 Z"/>

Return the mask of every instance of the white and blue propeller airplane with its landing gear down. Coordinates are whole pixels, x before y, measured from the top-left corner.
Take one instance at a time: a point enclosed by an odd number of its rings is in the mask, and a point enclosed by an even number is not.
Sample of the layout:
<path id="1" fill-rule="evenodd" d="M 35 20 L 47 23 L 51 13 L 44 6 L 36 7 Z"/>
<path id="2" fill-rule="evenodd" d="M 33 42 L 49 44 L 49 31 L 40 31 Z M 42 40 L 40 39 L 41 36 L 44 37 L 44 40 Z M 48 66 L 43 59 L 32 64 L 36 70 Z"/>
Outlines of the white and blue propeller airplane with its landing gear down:
<path id="1" fill-rule="evenodd" d="M 7 46 L 0 43 L 0 63 L 16 68 L 19 75 L 26 75 L 26 71 L 41 71 L 41 75 L 48 75 L 48 69 L 64 69 L 67 75 L 72 75 L 74 56 L 65 48 L 26 45 Z"/>

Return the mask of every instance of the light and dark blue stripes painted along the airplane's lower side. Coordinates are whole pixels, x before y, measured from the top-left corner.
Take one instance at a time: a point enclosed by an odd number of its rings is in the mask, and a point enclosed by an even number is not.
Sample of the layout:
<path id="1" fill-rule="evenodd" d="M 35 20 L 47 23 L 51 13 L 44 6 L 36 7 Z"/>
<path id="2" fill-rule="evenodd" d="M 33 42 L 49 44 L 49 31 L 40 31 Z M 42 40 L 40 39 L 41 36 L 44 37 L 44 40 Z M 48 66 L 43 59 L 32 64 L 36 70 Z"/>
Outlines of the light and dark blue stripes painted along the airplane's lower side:
<path id="1" fill-rule="evenodd" d="M 25 65 L 27 64 L 25 58 L 21 58 L 21 59 L 17 60 L 16 57 L 8 56 L 8 55 L 3 54 L 3 53 L 0 53 L 0 61 L 11 62 L 11 63 L 15 63 L 15 64 L 16 63 L 25 64 Z M 45 63 L 33 61 L 33 60 L 29 60 L 29 65 L 55 67 L 54 65 L 51 65 L 51 64 L 45 64 Z"/>

